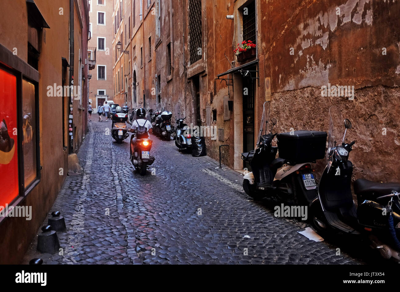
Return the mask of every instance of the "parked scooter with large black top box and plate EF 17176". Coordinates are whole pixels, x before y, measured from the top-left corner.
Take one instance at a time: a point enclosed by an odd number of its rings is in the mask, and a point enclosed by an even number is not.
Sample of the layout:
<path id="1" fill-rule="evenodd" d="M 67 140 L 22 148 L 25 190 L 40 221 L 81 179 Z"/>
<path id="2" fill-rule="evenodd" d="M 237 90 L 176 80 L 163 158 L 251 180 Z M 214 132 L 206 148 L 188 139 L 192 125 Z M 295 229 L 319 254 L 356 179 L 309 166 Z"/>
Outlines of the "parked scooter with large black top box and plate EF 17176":
<path id="1" fill-rule="evenodd" d="M 308 206 L 317 197 L 311 162 L 324 158 L 327 134 L 317 131 L 272 134 L 276 119 L 272 119 L 271 131 L 266 134 L 268 119 L 269 103 L 266 101 L 256 149 L 242 153 L 242 159 L 252 168 L 252 172 L 244 175 L 243 189 L 254 199 L 268 197 Z M 275 136 L 278 136 L 278 147 L 271 146 Z M 278 148 L 279 158 L 275 158 Z"/>

